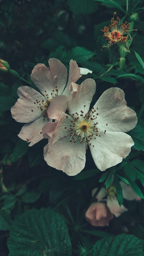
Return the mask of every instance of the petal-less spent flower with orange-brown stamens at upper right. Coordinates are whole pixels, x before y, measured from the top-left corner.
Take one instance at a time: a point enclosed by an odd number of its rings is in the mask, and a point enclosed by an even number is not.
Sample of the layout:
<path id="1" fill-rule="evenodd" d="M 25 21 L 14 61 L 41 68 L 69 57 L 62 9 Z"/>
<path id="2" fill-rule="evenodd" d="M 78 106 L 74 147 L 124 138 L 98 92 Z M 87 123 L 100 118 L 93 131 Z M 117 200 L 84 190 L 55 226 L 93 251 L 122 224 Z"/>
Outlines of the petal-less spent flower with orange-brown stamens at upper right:
<path id="1" fill-rule="evenodd" d="M 115 16 L 116 12 L 114 12 Z M 125 23 L 120 24 L 120 18 L 117 17 L 117 20 L 114 20 L 111 18 L 111 24 L 108 27 L 104 27 L 104 29 L 101 29 L 102 32 L 104 32 L 104 37 L 106 37 L 105 40 L 108 40 L 108 46 L 103 47 L 110 47 L 112 44 L 122 42 L 126 43 L 126 40 L 128 39 L 128 36 L 130 36 L 129 32 L 134 30 L 137 31 L 137 29 L 130 30 L 130 23 L 127 21 Z M 131 36 L 130 36 L 130 39 Z"/>

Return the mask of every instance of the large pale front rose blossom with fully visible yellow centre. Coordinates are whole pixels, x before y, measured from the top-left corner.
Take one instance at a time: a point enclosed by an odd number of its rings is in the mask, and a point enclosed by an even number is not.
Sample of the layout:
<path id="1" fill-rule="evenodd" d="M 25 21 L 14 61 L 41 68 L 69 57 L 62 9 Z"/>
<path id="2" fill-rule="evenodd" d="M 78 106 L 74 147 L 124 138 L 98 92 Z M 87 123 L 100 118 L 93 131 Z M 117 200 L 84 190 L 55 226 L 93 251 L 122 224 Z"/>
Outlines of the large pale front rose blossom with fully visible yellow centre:
<path id="1" fill-rule="evenodd" d="M 62 112 L 58 122 L 43 127 L 43 136 L 49 138 L 44 159 L 48 165 L 73 176 L 84 168 L 89 146 L 96 166 L 105 171 L 130 153 L 134 142 L 125 132 L 136 126 L 136 113 L 127 107 L 120 88 L 106 90 L 89 110 L 95 81 L 89 78 L 81 85 L 71 86 L 68 114 Z M 58 109 L 57 101 L 58 97 L 55 98 Z M 53 115 L 51 112 L 50 118 Z"/>

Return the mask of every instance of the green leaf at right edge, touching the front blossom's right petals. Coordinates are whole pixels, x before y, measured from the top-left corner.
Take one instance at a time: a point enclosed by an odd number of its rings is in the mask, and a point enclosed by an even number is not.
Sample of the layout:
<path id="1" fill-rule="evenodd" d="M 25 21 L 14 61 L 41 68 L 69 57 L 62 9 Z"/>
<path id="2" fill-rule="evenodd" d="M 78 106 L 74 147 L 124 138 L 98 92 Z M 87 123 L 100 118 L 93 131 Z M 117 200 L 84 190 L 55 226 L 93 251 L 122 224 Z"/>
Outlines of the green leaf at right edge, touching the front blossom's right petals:
<path id="1" fill-rule="evenodd" d="M 135 128 L 128 132 L 134 141 L 134 149 L 144 151 L 144 128 L 140 125 L 136 125 Z"/>

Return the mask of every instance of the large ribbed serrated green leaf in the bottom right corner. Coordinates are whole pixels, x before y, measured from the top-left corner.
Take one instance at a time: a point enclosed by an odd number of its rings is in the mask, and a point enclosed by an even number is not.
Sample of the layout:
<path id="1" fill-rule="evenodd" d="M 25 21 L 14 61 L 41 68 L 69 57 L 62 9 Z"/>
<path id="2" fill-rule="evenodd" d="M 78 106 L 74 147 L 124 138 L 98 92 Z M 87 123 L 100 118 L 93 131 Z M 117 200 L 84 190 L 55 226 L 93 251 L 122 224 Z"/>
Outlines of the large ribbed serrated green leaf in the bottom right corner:
<path id="1" fill-rule="evenodd" d="M 83 256 L 84 254 L 81 254 Z M 143 256 L 143 241 L 134 235 L 120 234 L 98 240 L 89 251 L 91 256 Z"/>

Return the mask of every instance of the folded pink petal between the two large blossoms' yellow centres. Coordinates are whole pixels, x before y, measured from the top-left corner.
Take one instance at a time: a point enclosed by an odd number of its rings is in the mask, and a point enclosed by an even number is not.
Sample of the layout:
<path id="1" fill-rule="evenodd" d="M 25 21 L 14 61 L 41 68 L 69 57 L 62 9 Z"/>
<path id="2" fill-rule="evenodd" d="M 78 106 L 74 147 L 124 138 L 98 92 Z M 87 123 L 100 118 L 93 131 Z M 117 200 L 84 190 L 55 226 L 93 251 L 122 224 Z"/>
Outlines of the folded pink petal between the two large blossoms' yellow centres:
<path id="1" fill-rule="evenodd" d="M 51 119 L 60 119 L 62 112 L 66 112 L 67 110 L 67 101 L 68 98 L 65 95 L 54 97 L 50 102 L 49 108 L 47 109 L 48 117 Z"/>

